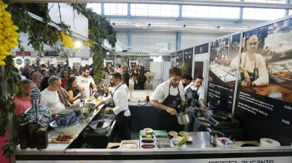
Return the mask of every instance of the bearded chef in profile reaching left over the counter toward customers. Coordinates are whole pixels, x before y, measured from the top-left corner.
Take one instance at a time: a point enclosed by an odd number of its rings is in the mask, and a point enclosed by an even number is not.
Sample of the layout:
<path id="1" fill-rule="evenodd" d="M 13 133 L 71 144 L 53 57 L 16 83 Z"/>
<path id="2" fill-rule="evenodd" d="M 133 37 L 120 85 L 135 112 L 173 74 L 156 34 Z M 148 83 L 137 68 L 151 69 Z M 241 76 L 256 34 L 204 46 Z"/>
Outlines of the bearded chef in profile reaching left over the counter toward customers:
<path id="1" fill-rule="evenodd" d="M 114 108 L 106 108 L 104 111 L 106 114 L 110 114 L 112 112 L 115 114 L 117 119 L 117 132 L 120 136 L 120 139 L 131 140 L 129 125 L 131 121 L 131 113 L 130 110 L 128 110 L 128 95 L 121 84 L 121 80 L 122 75 L 120 73 L 111 74 L 110 83 L 111 86 L 114 87 L 114 90 L 111 95 L 96 105 L 96 109 L 98 109 L 100 105 L 113 102 Z"/>

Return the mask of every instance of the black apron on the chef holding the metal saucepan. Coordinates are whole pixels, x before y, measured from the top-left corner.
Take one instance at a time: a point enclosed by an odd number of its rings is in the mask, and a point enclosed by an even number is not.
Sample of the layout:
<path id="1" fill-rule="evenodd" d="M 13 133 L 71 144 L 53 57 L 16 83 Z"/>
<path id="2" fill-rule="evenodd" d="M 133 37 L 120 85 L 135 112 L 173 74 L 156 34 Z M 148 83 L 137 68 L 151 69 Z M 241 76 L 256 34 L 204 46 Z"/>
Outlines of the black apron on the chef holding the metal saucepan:
<path id="1" fill-rule="evenodd" d="M 177 87 L 179 91 L 179 87 Z M 168 89 L 168 97 L 162 103 L 170 108 L 174 108 L 179 114 L 179 105 L 181 104 L 181 95 L 180 92 L 177 95 L 170 95 L 170 85 Z M 183 125 L 177 123 L 177 116 L 173 116 L 168 113 L 166 110 L 159 110 L 158 113 L 158 128 L 159 130 L 166 131 L 183 131 Z"/>

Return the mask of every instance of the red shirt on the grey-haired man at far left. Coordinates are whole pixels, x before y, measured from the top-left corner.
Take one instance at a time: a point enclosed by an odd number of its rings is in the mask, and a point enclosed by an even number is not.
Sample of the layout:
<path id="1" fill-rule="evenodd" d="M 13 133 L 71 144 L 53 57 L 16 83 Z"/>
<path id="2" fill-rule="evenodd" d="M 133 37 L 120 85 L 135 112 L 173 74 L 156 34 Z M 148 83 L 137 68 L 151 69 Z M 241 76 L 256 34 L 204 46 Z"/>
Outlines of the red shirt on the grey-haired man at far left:
<path id="1" fill-rule="evenodd" d="M 32 100 L 30 97 L 22 97 L 19 99 L 14 95 L 14 103 L 16 104 L 16 115 L 22 115 L 26 110 L 32 107 Z"/>

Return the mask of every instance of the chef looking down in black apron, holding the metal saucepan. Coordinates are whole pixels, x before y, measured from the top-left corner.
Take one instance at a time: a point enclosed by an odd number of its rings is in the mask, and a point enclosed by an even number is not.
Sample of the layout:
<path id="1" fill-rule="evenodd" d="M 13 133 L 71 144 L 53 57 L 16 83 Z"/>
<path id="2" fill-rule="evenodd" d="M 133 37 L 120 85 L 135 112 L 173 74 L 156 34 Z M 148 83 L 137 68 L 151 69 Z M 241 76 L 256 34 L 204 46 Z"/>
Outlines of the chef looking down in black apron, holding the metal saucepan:
<path id="1" fill-rule="evenodd" d="M 166 131 L 182 131 L 183 125 L 177 123 L 177 113 L 185 110 L 185 92 L 181 82 L 181 69 L 172 67 L 168 71 L 169 80 L 157 86 L 150 97 L 150 104 L 160 109 L 158 128 Z"/>

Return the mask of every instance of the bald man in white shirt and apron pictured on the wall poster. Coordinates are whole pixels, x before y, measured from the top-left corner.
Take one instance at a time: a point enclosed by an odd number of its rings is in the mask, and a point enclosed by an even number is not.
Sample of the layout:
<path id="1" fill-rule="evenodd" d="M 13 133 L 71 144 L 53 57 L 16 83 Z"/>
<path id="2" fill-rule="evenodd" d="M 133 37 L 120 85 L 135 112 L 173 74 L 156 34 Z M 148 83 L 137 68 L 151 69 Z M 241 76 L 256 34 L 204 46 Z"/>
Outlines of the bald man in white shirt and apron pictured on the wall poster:
<path id="1" fill-rule="evenodd" d="M 252 35 L 247 40 L 247 52 L 240 56 L 240 79 L 243 88 L 248 86 L 267 86 L 269 75 L 265 59 L 256 53 L 258 48 L 258 36 Z M 238 56 L 232 60 L 230 66 L 238 66 Z"/>

